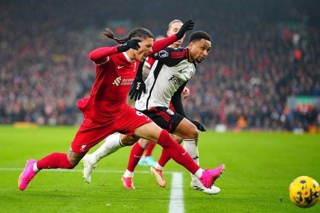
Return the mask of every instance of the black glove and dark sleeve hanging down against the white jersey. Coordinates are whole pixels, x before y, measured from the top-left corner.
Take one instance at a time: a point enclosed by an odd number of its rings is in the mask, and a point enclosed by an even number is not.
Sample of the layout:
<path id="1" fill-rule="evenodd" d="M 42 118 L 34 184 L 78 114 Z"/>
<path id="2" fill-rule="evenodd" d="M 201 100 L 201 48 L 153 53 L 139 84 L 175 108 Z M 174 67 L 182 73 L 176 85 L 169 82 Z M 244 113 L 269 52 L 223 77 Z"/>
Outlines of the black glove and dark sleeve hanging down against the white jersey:
<path id="1" fill-rule="evenodd" d="M 142 79 L 142 67 L 143 67 L 144 61 L 145 59 L 141 61 L 139 64 L 138 70 L 136 71 L 136 76 L 134 78 L 134 81 L 129 91 L 130 99 L 133 99 L 134 97 L 134 101 L 140 100 L 142 92 L 145 93 L 145 83 L 143 82 L 143 79 Z"/>

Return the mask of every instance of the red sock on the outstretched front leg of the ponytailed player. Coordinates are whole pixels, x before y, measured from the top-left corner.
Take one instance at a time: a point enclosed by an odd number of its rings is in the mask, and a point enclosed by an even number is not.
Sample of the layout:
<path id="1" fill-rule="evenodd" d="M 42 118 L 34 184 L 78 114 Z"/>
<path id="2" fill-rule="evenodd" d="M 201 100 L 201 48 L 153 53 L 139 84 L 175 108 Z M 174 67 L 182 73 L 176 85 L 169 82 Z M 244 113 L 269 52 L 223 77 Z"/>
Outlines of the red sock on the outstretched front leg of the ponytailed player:
<path id="1" fill-rule="evenodd" d="M 166 130 L 162 130 L 157 143 L 163 147 L 174 161 L 183 165 L 192 174 L 200 168 L 187 151 L 170 137 Z"/>

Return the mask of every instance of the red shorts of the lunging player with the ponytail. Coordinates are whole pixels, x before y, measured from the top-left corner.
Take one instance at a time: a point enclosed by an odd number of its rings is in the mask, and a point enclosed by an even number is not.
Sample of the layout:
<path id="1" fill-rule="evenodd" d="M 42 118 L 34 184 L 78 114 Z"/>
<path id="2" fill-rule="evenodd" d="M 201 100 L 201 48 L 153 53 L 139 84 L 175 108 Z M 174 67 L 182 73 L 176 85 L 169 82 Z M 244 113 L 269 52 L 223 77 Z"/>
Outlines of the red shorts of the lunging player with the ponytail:
<path id="1" fill-rule="evenodd" d="M 109 135 L 119 132 L 132 136 L 134 129 L 150 123 L 152 120 L 132 107 L 128 106 L 122 115 L 101 124 L 85 117 L 72 143 L 72 151 L 77 154 L 86 154 L 90 148 L 97 145 Z"/>

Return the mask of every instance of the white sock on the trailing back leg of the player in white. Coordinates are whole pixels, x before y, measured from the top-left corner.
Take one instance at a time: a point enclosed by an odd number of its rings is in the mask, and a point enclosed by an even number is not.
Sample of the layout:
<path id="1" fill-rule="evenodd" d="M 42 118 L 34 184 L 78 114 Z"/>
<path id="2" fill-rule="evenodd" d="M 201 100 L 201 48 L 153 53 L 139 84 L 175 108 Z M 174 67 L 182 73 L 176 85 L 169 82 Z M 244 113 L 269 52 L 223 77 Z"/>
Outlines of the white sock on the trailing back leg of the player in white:
<path id="1" fill-rule="evenodd" d="M 106 156 L 116 152 L 120 148 L 124 147 L 121 142 L 121 134 L 110 135 L 105 139 L 105 142 L 91 155 L 88 155 L 90 164 L 95 165 L 98 161 Z"/>

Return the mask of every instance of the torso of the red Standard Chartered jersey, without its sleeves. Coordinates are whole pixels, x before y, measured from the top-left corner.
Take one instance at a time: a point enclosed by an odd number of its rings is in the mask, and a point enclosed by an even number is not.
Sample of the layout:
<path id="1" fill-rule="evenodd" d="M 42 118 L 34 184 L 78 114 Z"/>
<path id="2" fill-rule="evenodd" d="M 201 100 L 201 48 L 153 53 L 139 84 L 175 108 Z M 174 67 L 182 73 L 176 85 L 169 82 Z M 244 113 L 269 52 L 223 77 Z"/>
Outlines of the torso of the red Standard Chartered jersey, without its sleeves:
<path id="1" fill-rule="evenodd" d="M 84 110 L 80 110 L 96 122 L 119 116 L 127 105 L 124 100 L 127 99 L 138 65 L 139 61 L 131 61 L 126 53 L 110 55 L 105 63 L 96 64 L 96 79 L 90 98 Z"/>

